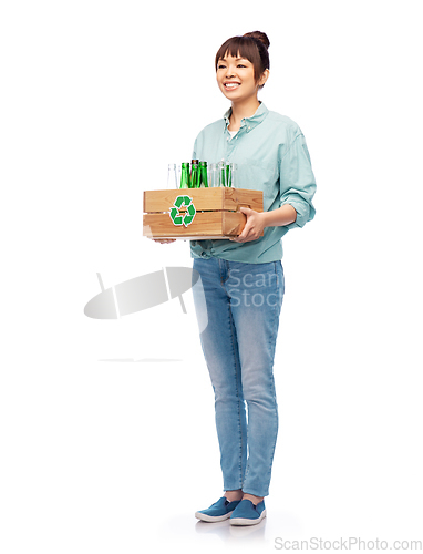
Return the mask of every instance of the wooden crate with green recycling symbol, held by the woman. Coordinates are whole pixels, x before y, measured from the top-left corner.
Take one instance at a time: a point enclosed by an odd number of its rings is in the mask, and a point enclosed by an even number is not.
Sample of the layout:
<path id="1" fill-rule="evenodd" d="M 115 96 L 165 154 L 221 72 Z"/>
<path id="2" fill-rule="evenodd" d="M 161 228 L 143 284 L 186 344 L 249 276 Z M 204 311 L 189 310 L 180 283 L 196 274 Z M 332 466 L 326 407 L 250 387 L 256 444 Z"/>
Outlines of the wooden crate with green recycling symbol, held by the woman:
<path id="1" fill-rule="evenodd" d="M 262 212 L 262 191 L 248 188 L 174 188 L 144 192 L 143 235 L 198 240 L 239 235 L 246 216 Z"/>

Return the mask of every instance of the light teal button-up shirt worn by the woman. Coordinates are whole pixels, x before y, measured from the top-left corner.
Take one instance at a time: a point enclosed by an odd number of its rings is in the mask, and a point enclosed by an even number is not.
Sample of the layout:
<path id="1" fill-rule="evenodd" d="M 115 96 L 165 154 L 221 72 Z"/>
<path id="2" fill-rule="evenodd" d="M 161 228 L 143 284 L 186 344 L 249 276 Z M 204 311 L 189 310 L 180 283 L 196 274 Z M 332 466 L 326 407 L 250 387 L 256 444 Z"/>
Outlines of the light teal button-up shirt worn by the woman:
<path id="1" fill-rule="evenodd" d="M 238 188 L 264 192 L 264 209 L 270 212 L 290 204 L 297 212 L 295 223 L 266 227 L 257 240 L 192 240 L 193 258 L 203 257 L 265 264 L 282 258 L 281 238 L 293 227 L 303 227 L 314 217 L 311 203 L 316 192 L 310 155 L 300 127 L 292 120 L 270 112 L 260 104 L 251 117 L 243 119 L 238 133 L 228 131 L 229 109 L 224 119 L 207 125 L 194 144 L 193 160 L 208 164 L 225 160 L 237 164 Z"/>

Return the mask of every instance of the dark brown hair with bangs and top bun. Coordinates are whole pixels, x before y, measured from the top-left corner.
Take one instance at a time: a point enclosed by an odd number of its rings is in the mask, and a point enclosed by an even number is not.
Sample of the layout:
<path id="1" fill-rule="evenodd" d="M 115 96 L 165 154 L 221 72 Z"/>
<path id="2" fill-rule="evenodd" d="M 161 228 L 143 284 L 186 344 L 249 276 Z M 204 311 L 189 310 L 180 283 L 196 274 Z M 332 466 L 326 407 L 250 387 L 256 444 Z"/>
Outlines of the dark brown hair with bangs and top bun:
<path id="1" fill-rule="evenodd" d="M 243 37 L 233 37 L 221 44 L 216 54 L 215 68 L 219 60 L 223 60 L 227 53 L 236 58 L 237 55 L 249 60 L 254 66 L 254 76 L 256 81 L 260 79 L 264 71 L 270 68 L 269 52 L 270 41 L 266 33 L 254 31 Z"/>

